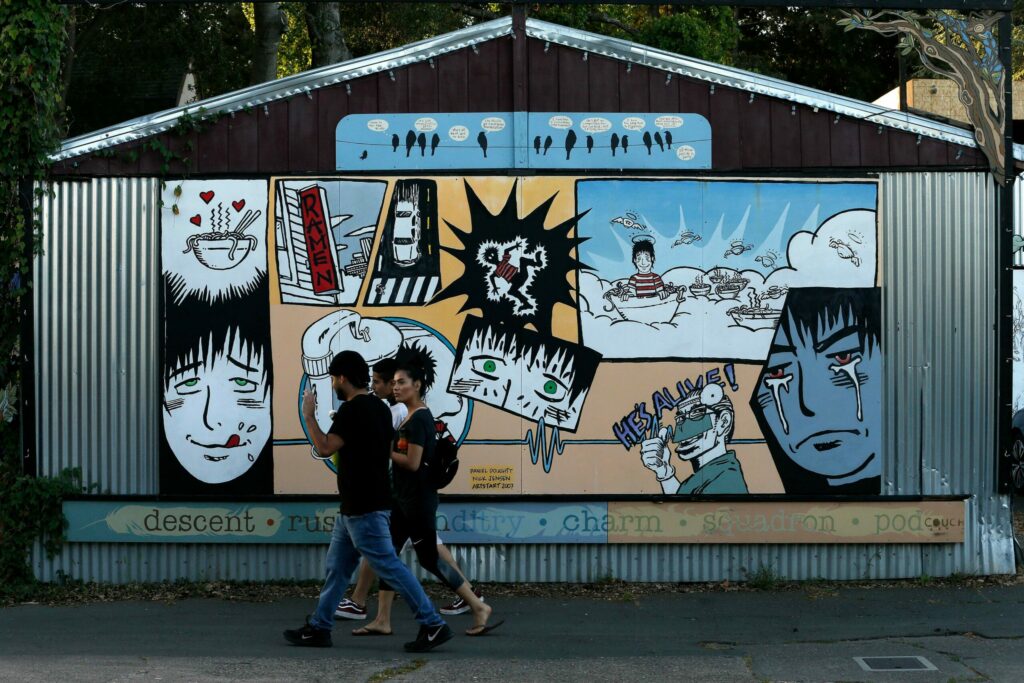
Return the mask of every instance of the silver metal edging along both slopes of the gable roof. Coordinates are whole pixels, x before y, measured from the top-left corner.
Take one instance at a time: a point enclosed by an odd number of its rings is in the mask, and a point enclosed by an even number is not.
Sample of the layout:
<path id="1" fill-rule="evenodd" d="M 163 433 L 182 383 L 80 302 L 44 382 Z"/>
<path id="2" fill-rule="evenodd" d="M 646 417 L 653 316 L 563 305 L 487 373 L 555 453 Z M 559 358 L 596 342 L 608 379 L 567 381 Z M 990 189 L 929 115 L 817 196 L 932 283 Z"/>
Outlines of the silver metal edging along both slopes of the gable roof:
<path id="1" fill-rule="evenodd" d="M 413 63 L 430 60 L 441 54 L 464 49 L 472 45 L 509 36 L 512 34 L 511 17 L 477 24 L 466 29 L 410 43 L 384 52 L 377 52 L 348 61 L 296 74 L 287 78 L 250 86 L 234 92 L 209 97 L 198 102 L 165 110 L 139 117 L 121 124 L 109 126 L 84 135 L 65 140 L 60 150 L 51 155 L 51 161 L 61 161 L 95 153 L 141 137 L 165 132 L 185 116 L 207 114 L 230 114 L 254 106 L 262 106 L 274 100 L 308 93 L 312 90 L 371 74 L 400 69 Z M 620 38 L 570 29 L 568 27 L 526 19 L 526 36 L 569 48 L 601 54 L 621 61 L 632 62 L 677 74 L 696 81 L 735 88 L 752 93 L 791 101 L 833 112 L 839 116 L 858 121 L 869 121 L 880 126 L 894 128 L 924 137 L 939 139 L 969 147 L 977 147 L 973 131 L 928 119 L 923 116 L 899 112 L 865 102 L 852 97 L 844 97 L 823 90 L 761 76 L 753 72 L 725 67 L 702 59 L 667 52 Z M 1024 145 L 1014 145 L 1014 157 L 1024 159 Z"/>

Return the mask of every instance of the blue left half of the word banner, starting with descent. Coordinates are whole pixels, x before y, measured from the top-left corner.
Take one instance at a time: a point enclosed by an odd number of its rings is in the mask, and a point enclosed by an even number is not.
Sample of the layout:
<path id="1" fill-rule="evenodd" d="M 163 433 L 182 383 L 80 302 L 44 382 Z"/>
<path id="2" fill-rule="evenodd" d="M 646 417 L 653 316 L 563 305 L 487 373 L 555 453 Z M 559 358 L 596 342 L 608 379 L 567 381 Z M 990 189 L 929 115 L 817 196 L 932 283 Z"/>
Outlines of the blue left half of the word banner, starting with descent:
<path id="1" fill-rule="evenodd" d="M 167 503 L 67 501 L 73 543 L 326 544 L 338 514 L 332 501 Z M 606 503 L 442 503 L 445 543 L 607 543 Z"/>

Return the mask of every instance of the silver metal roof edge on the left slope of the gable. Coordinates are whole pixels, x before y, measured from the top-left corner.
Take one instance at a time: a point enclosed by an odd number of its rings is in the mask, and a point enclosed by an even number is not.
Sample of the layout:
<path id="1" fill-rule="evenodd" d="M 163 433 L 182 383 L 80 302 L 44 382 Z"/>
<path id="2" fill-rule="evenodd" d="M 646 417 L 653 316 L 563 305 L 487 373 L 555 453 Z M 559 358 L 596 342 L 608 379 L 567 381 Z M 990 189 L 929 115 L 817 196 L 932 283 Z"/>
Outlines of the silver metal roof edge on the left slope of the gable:
<path id="1" fill-rule="evenodd" d="M 344 81 L 369 76 L 391 69 L 426 61 L 432 57 L 453 52 L 471 45 L 501 38 L 512 33 L 511 17 L 475 24 L 441 36 L 427 38 L 384 52 L 376 52 L 348 61 L 310 70 L 294 76 L 268 81 L 259 85 L 209 97 L 197 102 L 164 110 L 155 114 L 125 121 L 91 133 L 68 138 L 60 150 L 50 155 L 51 162 L 92 154 L 106 147 L 156 135 L 173 128 L 185 116 L 230 114 L 261 106 L 276 99 L 291 97 Z"/>

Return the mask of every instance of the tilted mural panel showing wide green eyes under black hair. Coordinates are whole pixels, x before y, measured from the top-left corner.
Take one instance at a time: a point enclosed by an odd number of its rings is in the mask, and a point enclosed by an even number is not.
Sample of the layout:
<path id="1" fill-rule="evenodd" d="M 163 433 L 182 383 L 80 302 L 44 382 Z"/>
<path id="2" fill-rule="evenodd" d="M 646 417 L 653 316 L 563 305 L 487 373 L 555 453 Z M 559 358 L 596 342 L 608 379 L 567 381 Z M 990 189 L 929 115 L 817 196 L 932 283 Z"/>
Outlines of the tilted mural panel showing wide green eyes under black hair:
<path id="1" fill-rule="evenodd" d="M 575 430 L 599 359 L 583 346 L 467 317 L 449 391 Z"/>

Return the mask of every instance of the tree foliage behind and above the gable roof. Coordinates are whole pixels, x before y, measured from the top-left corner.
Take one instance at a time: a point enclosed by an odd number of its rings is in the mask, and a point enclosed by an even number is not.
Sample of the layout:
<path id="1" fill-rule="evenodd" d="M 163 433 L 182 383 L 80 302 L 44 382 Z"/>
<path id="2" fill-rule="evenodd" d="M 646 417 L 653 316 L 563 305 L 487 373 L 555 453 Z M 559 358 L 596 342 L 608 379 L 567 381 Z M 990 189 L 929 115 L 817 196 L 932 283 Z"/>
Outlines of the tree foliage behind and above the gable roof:
<path id="1" fill-rule="evenodd" d="M 281 3 L 286 28 L 279 77 L 310 67 L 306 5 Z M 200 97 L 247 85 L 256 45 L 252 7 L 242 2 L 76 7 L 68 96 L 72 132 L 172 106 L 189 65 Z M 866 32 L 844 34 L 836 10 L 616 3 L 534 3 L 528 10 L 540 19 L 862 99 L 874 99 L 897 83 L 894 42 Z M 352 54 L 361 56 L 509 11 L 510 4 L 502 2 L 343 3 L 341 31 Z M 1024 42 L 1020 47 L 1024 50 Z"/>

